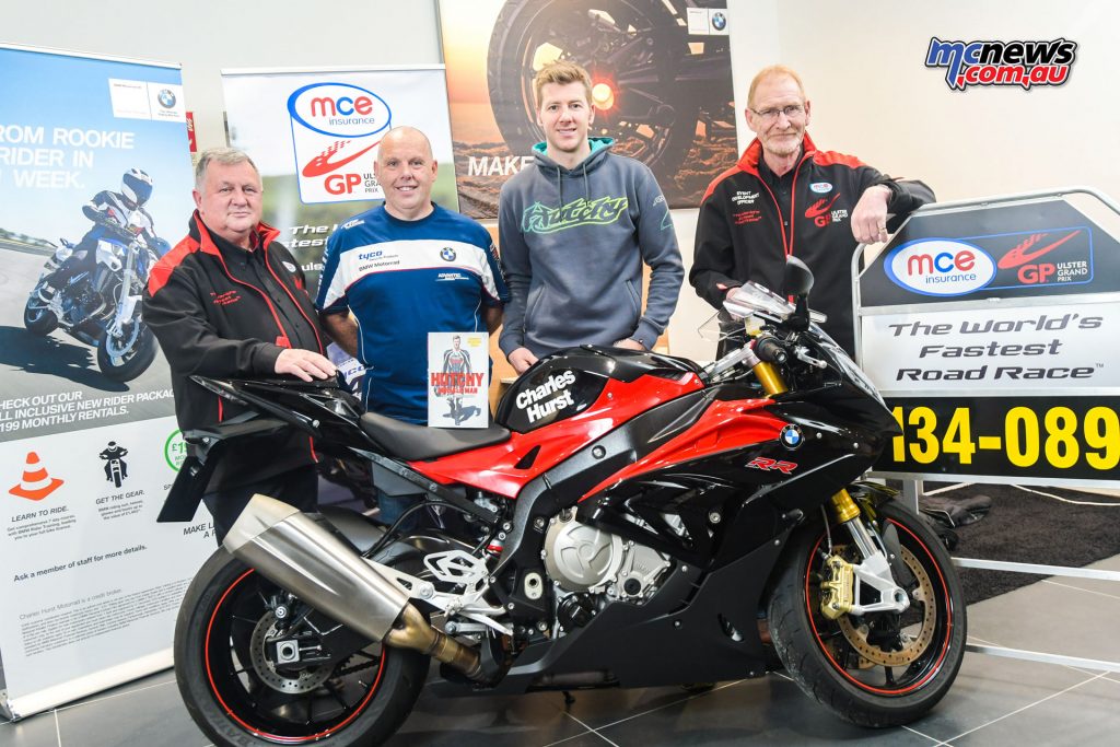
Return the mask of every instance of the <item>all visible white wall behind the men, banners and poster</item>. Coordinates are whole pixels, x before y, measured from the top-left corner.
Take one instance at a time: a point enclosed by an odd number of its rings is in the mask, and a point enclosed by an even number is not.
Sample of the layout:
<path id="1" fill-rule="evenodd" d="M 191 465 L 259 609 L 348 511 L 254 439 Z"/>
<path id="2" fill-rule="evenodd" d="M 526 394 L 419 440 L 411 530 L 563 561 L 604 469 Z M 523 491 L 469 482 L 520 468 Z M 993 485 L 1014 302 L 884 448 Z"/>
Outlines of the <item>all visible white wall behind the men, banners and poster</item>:
<path id="1" fill-rule="evenodd" d="M 467 2 L 469 0 L 461 0 Z M 223 67 L 439 63 L 436 0 L 193 3 L 28 0 L 8 3 L 0 40 L 183 64 L 200 148 L 224 143 Z M 1113 62 L 1120 3 L 1109 0 L 729 0 L 740 147 L 746 86 L 764 65 L 799 69 L 819 147 L 922 178 L 942 200 L 1084 184 L 1113 197 L 1120 96 Z M 930 37 L 1077 41 L 1058 88 L 950 91 L 924 66 Z M 2 102 L 0 102 L 2 114 Z M 715 176 L 715 175 L 713 175 Z M 685 263 L 696 211 L 674 214 Z M 673 353 L 708 357 L 710 309 L 685 286 Z"/>

